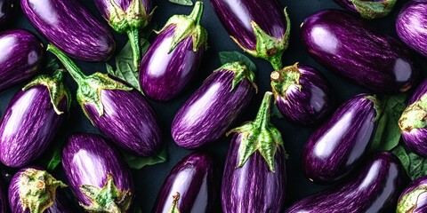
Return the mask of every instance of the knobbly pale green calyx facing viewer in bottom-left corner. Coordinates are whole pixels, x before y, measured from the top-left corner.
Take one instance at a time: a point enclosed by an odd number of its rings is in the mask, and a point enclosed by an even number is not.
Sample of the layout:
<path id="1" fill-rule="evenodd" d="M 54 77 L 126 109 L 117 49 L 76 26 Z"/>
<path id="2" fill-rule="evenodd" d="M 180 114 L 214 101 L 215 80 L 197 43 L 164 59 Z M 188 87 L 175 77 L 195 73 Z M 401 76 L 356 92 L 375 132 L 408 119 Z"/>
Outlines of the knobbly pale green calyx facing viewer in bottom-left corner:
<path id="1" fill-rule="evenodd" d="M 55 201 L 56 188 L 67 187 L 45 170 L 27 169 L 20 174 L 20 202 L 22 211 L 42 213 Z"/>

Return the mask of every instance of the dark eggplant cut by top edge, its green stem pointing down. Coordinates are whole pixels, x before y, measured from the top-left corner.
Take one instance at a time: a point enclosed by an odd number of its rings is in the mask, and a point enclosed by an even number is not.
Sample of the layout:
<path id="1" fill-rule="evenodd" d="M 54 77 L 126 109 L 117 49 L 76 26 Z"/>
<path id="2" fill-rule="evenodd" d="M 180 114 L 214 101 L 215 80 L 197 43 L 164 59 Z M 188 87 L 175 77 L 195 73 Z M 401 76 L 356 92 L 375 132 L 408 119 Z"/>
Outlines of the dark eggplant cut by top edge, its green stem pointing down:
<path id="1" fill-rule="evenodd" d="M 211 0 L 214 12 L 238 46 L 254 57 L 282 68 L 291 21 L 277 0 Z M 268 12 L 268 15 L 265 14 Z"/>

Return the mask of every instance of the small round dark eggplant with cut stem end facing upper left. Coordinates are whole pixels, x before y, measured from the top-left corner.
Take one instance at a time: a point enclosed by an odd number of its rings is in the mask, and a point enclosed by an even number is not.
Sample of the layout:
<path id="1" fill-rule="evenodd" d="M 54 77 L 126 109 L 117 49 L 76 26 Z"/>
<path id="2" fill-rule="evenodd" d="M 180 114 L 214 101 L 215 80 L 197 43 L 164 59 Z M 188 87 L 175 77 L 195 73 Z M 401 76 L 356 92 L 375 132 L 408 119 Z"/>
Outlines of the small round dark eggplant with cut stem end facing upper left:
<path id="1" fill-rule="evenodd" d="M 278 109 L 289 121 L 312 125 L 332 112 L 330 85 L 317 69 L 296 63 L 272 72 L 270 78 Z"/>

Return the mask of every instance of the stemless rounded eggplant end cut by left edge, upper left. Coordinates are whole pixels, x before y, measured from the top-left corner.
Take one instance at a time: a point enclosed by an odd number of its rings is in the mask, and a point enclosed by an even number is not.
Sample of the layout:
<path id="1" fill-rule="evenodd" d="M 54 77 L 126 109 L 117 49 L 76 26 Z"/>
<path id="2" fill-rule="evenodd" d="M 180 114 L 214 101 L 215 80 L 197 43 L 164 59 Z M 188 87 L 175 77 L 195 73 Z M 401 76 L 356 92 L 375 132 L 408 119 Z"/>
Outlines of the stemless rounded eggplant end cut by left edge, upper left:
<path id="1" fill-rule="evenodd" d="M 23 83 L 40 72 L 43 43 L 26 29 L 0 33 L 0 91 Z"/>

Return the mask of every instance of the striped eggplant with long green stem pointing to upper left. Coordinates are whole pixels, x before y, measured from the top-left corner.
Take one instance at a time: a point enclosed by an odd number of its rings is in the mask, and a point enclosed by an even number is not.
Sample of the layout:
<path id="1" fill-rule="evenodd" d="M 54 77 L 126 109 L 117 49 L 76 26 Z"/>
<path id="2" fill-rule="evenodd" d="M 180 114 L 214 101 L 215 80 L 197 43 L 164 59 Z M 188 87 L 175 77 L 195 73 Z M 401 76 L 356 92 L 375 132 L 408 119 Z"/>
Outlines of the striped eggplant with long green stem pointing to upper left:
<path id="1" fill-rule="evenodd" d="M 77 101 L 96 128 L 132 154 L 149 156 L 157 152 L 161 145 L 157 117 L 140 91 L 106 74 L 84 75 L 52 44 L 48 51 L 60 59 L 77 82 Z"/>

